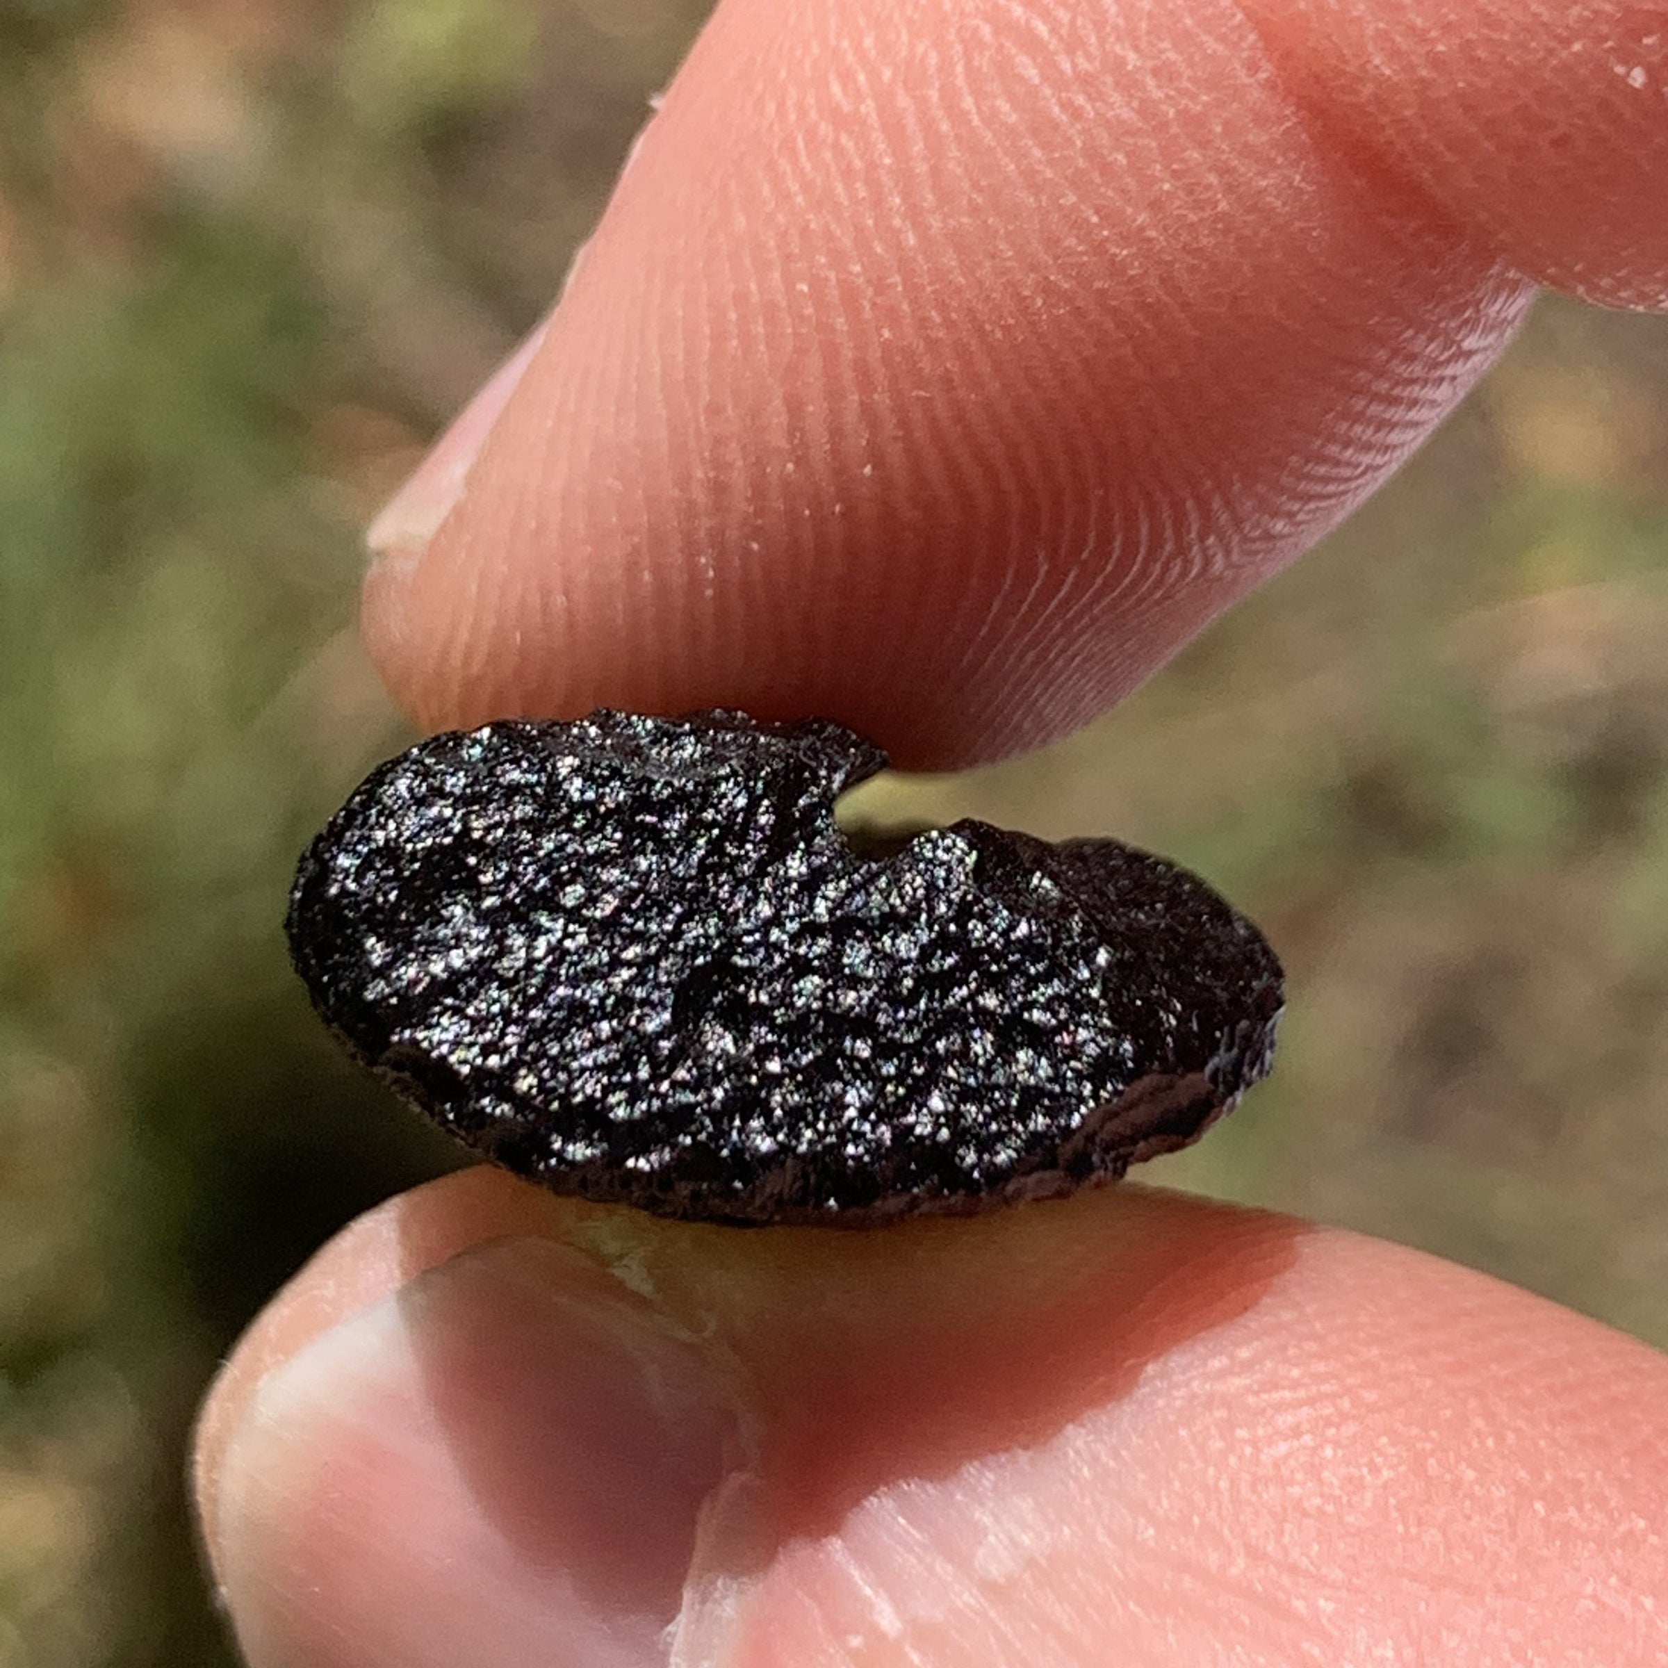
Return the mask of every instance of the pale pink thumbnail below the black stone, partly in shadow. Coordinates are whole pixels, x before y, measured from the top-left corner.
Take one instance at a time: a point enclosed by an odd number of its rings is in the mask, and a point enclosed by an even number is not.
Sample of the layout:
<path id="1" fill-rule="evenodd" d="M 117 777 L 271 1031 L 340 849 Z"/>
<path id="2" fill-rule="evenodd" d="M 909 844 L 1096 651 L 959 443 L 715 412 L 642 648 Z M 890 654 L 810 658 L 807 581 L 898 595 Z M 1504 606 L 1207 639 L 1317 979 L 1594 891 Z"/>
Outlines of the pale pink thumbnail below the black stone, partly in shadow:
<path id="1" fill-rule="evenodd" d="M 727 1384 L 652 1304 L 494 1239 L 262 1376 L 215 1568 L 252 1668 L 659 1668 L 737 1449 Z"/>

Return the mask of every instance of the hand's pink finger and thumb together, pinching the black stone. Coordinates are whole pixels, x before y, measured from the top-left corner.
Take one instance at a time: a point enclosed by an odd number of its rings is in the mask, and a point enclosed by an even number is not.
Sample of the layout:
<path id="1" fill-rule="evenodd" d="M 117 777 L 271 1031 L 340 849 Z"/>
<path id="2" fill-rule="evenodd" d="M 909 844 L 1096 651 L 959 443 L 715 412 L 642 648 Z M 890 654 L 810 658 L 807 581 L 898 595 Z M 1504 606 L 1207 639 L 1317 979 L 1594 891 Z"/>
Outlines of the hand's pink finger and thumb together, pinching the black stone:
<path id="1" fill-rule="evenodd" d="M 372 530 L 424 722 L 1042 742 L 1411 450 L 1536 284 L 1668 307 L 1668 10 L 726 0 Z M 1141 1188 L 877 1234 L 475 1171 L 203 1413 L 255 1668 L 1668 1660 L 1668 1359 Z"/>

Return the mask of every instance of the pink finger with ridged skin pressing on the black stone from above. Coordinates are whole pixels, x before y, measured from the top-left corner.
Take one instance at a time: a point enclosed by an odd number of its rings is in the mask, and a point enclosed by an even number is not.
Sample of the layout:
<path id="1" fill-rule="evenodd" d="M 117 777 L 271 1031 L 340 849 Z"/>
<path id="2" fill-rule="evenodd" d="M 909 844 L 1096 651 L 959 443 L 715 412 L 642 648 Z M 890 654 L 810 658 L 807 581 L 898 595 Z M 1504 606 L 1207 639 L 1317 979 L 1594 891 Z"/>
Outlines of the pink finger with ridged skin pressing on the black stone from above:
<path id="1" fill-rule="evenodd" d="M 1650 15 L 726 0 L 374 529 L 384 676 L 429 726 L 817 712 L 916 767 L 1071 729 L 1393 470 L 1531 280 L 1668 300 Z"/>

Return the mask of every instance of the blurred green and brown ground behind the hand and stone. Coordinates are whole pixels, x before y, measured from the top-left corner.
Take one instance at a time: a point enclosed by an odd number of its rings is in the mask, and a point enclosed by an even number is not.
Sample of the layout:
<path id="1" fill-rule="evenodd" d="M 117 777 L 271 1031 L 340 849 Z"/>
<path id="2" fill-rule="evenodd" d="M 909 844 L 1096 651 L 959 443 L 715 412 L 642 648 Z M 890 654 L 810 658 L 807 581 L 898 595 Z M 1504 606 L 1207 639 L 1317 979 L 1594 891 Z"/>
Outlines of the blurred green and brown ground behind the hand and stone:
<path id="1" fill-rule="evenodd" d="M 701 12 L 0 0 L 0 1668 L 230 1661 L 195 1399 L 450 1163 L 279 936 L 402 737 L 357 529 L 555 292 Z M 1171 1181 L 1668 1344 L 1665 649 L 1668 324 L 1546 302 L 1123 711 L 869 809 L 1119 832 L 1263 921 L 1279 1073 Z"/>

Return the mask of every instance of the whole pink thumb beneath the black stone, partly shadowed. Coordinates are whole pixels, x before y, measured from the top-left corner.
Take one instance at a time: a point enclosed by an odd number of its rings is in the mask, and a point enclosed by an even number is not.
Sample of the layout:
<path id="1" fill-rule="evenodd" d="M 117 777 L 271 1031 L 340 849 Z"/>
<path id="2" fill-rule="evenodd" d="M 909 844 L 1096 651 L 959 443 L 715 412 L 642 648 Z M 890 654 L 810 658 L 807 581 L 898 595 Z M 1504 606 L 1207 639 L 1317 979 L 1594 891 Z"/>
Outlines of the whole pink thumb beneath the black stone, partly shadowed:
<path id="1" fill-rule="evenodd" d="M 1181 1196 L 736 1231 L 474 1171 L 290 1286 L 198 1486 L 252 1668 L 1645 1668 L 1665 1408 L 1590 1321 Z"/>

